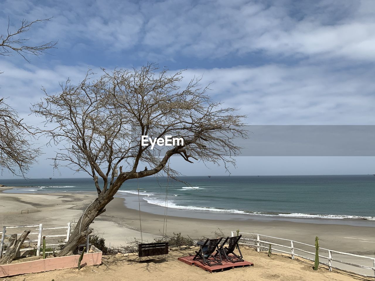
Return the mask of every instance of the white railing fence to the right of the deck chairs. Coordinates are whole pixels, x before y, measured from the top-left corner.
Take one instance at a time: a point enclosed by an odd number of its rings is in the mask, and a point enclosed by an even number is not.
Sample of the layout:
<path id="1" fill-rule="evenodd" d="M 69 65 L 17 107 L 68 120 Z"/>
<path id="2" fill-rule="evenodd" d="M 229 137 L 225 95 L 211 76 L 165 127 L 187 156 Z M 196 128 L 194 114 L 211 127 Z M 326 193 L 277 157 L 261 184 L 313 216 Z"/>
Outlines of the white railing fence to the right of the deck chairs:
<path id="1" fill-rule="evenodd" d="M 292 260 L 294 260 L 294 257 L 301 257 L 301 258 L 306 259 L 306 260 L 311 260 L 313 262 L 315 261 L 315 245 L 309 245 L 309 244 L 305 244 L 305 243 L 302 243 L 302 242 L 297 242 L 297 241 L 293 241 L 293 240 L 289 240 L 289 239 L 283 239 L 283 238 L 272 237 L 272 236 L 267 236 L 267 235 L 260 235 L 258 233 L 239 232 L 239 234 L 242 234 L 242 236 L 243 236 L 240 241 L 250 241 L 249 243 L 239 242 L 239 244 L 256 247 L 258 252 L 260 252 L 261 249 L 264 249 L 265 251 L 268 251 L 269 245 L 271 245 L 272 251 L 277 251 L 277 252 L 284 253 L 284 254 L 290 254 Z M 252 235 L 252 238 L 248 238 L 244 235 Z M 237 236 L 237 232 L 232 231 L 231 236 Z M 263 239 L 263 237 L 266 237 L 266 239 Z M 278 239 L 278 240 L 282 240 L 282 241 L 288 241 L 288 244 L 290 246 L 282 245 L 282 244 L 276 244 L 274 242 L 266 241 L 266 240 L 269 240 L 269 239 Z M 304 245 L 305 248 L 313 247 L 314 250 L 311 252 L 311 251 L 303 250 L 303 249 L 300 249 L 300 248 L 296 248 L 295 244 Z M 264 246 L 264 245 L 268 245 L 268 246 Z M 280 250 L 280 249 L 272 247 L 272 246 L 281 247 L 281 248 L 284 248 L 285 250 Z M 296 253 L 298 251 L 302 252 L 304 254 L 302 255 L 302 254 Z M 326 259 L 328 261 L 326 263 L 326 262 L 321 262 L 321 260 L 319 260 L 319 263 L 322 264 L 322 265 L 328 266 L 329 271 L 332 271 L 332 269 L 334 268 L 334 269 L 339 269 L 341 271 L 349 272 L 351 274 L 375 278 L 375 258 L 373 258 L 373 257 L 344 253 L 344 252 L 329 250 L 329 249 L 321 248 L 321 247 L 319 247 L 319 251 L 320 251 L 319 257 L 322 258 L 322 259 Z M 321 255 L 320 253 L 322 253 L 322 252 L 324 252 L 325 254 L 328 254 L 328 256 Z M 312 255 L 314 258 L 306 257 L 306 254 Z M 371 261 L 372 261 L 372 266 L 360 265 L 360 264 L 353 263 L 353 262 L 345 262 L 345 261 L 340 260 L 340 259 L 335 259 L 335 258 L 332 257 L 333 254 L 335 254 L 335 256 L 336 255 L 348 256 L 348 257 L 351 257 L 352 259 L 354 257 L 357 258 L 357 259 L 360 258 L 362 261 L 366 260 L 369 263 L 371 263 Z M 332 264 L 333 262 L 334 262 L 334 264 Z M 355 268 L 366 269 L 367 271 L 372 270 L 374 273 L 372 275 L 364 274 L 363 271 L 359 272 L 359 271 L 348 270 L 347 268 L 339 267 L 338 264 L 344 264 L 344 265 L 353 266 Z"/>

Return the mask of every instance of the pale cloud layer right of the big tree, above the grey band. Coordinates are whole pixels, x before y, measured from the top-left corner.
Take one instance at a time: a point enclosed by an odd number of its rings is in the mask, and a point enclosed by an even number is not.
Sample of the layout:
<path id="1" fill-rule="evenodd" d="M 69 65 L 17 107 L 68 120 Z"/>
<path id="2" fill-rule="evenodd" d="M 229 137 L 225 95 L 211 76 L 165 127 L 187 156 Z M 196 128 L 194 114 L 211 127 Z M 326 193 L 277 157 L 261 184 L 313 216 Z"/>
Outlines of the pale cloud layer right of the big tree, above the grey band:
<path id="1" fill-rule="evenodd" d="M 322 66 L 269 65 L 194 69 L 214 81 L 209 94 L 225 106 L 241 108 L 252 124 L 374 124 L 374 72 Z"/>

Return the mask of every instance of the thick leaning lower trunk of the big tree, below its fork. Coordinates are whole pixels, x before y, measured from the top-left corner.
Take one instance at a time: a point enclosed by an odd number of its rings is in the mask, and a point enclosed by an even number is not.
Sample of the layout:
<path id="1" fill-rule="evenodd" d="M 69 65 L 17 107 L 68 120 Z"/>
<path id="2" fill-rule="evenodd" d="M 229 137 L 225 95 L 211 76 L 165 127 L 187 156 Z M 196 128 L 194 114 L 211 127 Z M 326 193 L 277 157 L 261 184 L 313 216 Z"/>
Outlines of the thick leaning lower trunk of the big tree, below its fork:
<path id="1" fill-rule="evenodd" d="M 92 230 L 88 229 L 90 224 L 96 217 L 98 217 L 98 215 L 105 212 L 105 206 L 113 199 L 112 194 L 116 192 L 117 190 L 111 190 L 111 192 L 110 190 L 108 190 L 105 194 L 101 193 L 99 194 L 98 198 L 96 198 L 95 201 L 91 203 L 91 205 L 89 205 L 89 207 L 81 216 L 80 220 L 78 220 L 78 223 L 75 226 L 72 235 L 69 237 L 68 242 L 65 244 L 64 248 L 57 254 L 58 257 L 70 256 L 76 252 L 78 245 L 80 245 L 81 242 L 86 239 L 87 235 L 92 232 Z"/>

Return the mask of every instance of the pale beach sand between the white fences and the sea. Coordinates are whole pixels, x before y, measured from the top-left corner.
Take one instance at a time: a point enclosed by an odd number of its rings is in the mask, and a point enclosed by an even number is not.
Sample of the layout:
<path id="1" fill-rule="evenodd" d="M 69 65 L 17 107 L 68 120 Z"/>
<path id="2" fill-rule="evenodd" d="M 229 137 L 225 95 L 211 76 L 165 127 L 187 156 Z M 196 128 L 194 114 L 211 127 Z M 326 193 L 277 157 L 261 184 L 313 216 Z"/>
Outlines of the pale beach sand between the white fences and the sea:
<path id="1" fill-rule="evenodd" d="M 69 221 L 77 221 L 87 205 L 96 198 L 96 193 L 1 193 L 0 196 L 1 205 L 3 205 L 3 207 L 0 206 L 0 222 L 3 226 L 30 223 L 60 226 L 66 225 Z M 106 245 L 125 245 L 133 238 L 140 238 L 139 210 L 129 208 L 132 204 L 134 204 L 134 198 L 131 196 L 115 197 L 107 205 L 107 211 L 95 219 L 94 234 L 103 236 L 106 239 Z M 148 203 L 145 202 L 145 204 Z M 301 223 L 279 218 L 272 220 L 237 216 L 223 218 L 222 214 L 208 218 L 199 216 L 201 212 L 196 212 L 196 217 L 180 217 L 168 211 L 165 225 L 163 214 L 149 212 L 150 209 L 155 212 L 162 207 L 156 205 L 148 207 L 144 208 L 142 204 L 140 213 L 142 236 L 148 242 L 152 242 L 154 237 L 159 236 L 163 227 L 168 234 L 181 232 L 183 236 L 189 235 L 192 238 L 214 236 L 214 232 L 218 229 L 229 236 L 231 231 L 240 229 L 241 232 L 260 233 L 306 244 L 314 244 L 315 236 L 319 236 L 320 246 L 323 248 L 365 256 L 374 254 L 375 238 L 372 223 L 366 226 L 356 226 L 316 223 L 311 219 L 304 219 Z M 29 214 L 21 215 L 21 209 L 29 209 Z M 327 219 L 320 220 L 327 221 Z"/>

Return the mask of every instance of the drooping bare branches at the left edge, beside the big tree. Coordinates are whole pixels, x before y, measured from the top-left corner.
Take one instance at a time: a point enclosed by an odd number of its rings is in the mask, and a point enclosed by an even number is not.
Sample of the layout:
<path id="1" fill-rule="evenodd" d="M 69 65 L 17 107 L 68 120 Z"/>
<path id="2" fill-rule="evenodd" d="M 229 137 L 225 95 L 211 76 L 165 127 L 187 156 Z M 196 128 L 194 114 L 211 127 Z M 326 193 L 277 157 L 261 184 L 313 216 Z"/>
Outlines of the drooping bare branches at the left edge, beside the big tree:
<path id="1" fill-rule="evenodd" d="M 40 155 L 39 148 L 31 148 L 30 130 L 18 117 L 5 99 L 0 99 L 0 169 L 24 175 L 34 159 Z"/>

